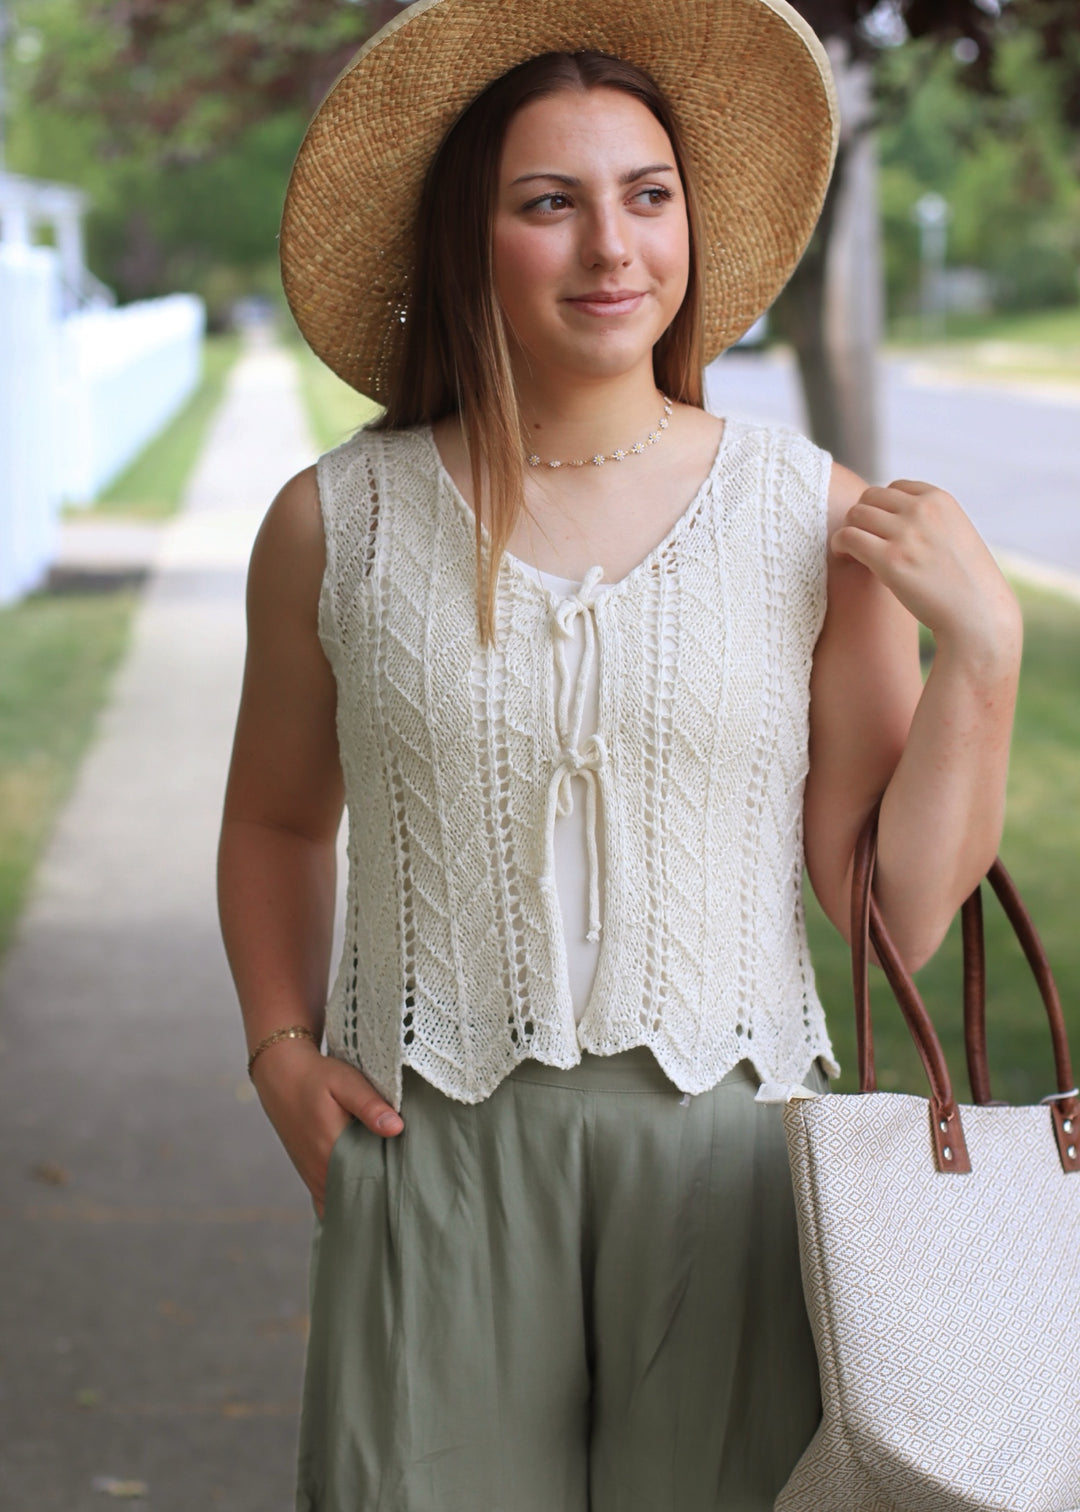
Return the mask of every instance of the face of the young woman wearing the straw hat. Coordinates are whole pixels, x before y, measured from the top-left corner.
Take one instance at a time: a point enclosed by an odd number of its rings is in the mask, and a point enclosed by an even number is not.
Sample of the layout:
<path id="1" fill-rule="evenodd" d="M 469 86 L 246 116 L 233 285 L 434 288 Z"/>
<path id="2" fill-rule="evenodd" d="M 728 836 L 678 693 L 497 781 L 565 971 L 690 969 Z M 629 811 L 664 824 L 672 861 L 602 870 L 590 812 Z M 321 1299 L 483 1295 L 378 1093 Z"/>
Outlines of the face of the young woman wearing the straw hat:
<path id="1" fill-rule="evenodd" d="M 690 272 L 687 203 L 659 121 L 619 89 L 564 89 L 511 119 L 495 284 L 511 349 L 590 376 L 652 361 Z"/>

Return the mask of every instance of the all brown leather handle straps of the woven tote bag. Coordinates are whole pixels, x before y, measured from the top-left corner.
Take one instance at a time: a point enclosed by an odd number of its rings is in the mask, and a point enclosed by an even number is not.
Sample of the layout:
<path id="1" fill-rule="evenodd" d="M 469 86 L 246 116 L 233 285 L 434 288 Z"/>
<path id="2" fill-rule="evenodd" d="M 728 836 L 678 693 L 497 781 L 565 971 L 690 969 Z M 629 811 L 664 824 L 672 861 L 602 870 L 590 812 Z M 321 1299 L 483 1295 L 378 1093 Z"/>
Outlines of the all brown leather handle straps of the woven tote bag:
<path id="1" fill-rule="evenodd" d="M 859 1058 L 859 1090 L 876 1089 L 873 1028 L 870 1010 L 870 943 L 877 951 L 885 977 L 900 1004 L 908 1028 L 915 1040 L 923 1069 L 930 1083 L 930 1132 L 938 1170 L 971 1170 L 959 1110 L 941 1040 L 933 1028 L 926 1004 L 903 965 L 873 895 L 874 860 L 877 854 L 877 815 L 880 803 L 864 824 L 855 848 L 852 874 L 852 975 L 855 984 L 855 1031 Z M 1080 1170 L 1080 1096 L 1072 1083 L 1065 1016 L 1050 962 L 1035 924 L 1021 903 L 1016 885 L 1000 860 L 986 874 L 1006 918 L 1012 924 L 1024 956 L 1032 968 L 1050 1021 L 1054 1048 L 1057 1095 L 1047 1099 L 1065 1172 Z M 964 930 L 964 1031 L 968 1055 L 971 1092 L 976 1104 L 989 1104 L 989 1069 L 986 1061 L 986 951 L 982 925 L 980 889 L 971 894 L 962 910 Z"/>

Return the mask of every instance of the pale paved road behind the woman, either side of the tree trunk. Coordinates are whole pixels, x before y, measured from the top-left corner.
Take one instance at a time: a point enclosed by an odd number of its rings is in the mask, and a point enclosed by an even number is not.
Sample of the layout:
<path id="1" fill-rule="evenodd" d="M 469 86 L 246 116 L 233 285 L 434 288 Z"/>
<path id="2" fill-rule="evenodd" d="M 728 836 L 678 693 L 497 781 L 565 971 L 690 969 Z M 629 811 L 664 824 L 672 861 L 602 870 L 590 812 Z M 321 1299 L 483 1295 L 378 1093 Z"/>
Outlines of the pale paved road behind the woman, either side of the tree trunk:
<path id="1" fill-rule="evenodd" d="M 1080 390 L 950 384 L 883 363 L 885 478 L 956 494 L 994 547 L 1080 573 Z M 791 363 L 732 352 L 709 369 L 709 405 L 803 426 Z"/>

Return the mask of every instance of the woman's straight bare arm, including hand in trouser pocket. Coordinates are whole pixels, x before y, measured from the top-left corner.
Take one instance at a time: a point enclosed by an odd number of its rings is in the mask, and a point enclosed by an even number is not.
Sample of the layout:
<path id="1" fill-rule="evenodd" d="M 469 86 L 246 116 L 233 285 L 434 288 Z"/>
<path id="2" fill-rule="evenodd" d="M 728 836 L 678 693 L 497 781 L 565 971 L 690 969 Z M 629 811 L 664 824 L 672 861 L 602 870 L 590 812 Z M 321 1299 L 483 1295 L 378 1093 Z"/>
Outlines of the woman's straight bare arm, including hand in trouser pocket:
<path id="1" fill-rule="evenodd" d="M 324 562 L 307 469 L 271 505 L 251 553 L 248 655 L 218 856 L 221 928 L 248 1049 L 293 1024 L 322 1036 L 343 788 L 334 677 L 318 637 Z M 330 1149 L 349 1114 L 380 1134 L 402 1126 L 358 1070 L 310 1040 L 272 1045 L 253 1077 L 319 1213 Z"/>

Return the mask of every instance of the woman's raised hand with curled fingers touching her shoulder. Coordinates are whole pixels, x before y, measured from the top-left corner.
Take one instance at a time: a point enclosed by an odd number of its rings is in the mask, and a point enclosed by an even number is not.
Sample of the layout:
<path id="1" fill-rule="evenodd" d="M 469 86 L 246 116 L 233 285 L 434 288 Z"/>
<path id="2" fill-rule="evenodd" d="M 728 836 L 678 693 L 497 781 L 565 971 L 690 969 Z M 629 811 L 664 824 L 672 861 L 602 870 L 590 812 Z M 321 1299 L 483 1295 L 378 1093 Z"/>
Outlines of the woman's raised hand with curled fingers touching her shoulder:
<path id="1" fill-rule="evenodd" d="M 944 488 L 909 478 L 865 488 L 830 544 L 838 556 L 868 567 L 939 644 L 991 658 L 1012 653 L 1016 600 L 971 520 Z"/>

